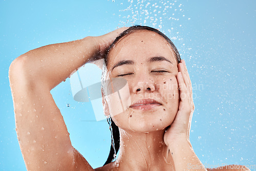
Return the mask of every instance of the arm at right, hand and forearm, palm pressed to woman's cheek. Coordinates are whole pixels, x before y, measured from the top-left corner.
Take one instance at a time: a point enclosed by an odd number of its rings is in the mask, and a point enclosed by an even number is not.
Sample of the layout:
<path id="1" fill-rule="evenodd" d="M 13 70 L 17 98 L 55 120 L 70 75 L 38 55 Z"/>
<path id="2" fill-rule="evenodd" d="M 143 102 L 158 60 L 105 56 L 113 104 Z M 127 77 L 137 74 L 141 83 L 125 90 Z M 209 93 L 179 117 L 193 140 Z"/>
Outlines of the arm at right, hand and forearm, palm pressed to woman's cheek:
<path id="1" fill-rule="evenodd" d="M 174 122 L 164 134 L 164 142 L 169 148 L 170 155 L 173 157 L 175 170 L 206 171 L 206 168 L 195 154 L 189 141 L 191 118 L 195 106 L 192 97 L 191 81 L 183 59 L 179 63 L 178 69 L 177 80 L 180 90 L 179 111 Z"/>

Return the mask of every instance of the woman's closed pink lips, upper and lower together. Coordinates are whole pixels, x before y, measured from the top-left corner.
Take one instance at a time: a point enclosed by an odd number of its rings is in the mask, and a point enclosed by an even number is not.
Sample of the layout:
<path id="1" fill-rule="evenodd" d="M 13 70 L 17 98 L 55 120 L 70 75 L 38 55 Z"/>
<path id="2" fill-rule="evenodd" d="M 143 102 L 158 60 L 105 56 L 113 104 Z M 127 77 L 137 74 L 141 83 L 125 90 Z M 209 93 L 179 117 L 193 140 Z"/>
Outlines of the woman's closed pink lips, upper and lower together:
<path id="1" fill-rule="evenodd" d="M 154 99 L 140 99 L 135 103 L 133 103 L 130 106 L 130 108 L 140 110 L 140 111 L 146 111 L 146 110 L 151 110 L 153 108 L 156 108 L 159 105 L 162 105 L 162 104 Z"/>

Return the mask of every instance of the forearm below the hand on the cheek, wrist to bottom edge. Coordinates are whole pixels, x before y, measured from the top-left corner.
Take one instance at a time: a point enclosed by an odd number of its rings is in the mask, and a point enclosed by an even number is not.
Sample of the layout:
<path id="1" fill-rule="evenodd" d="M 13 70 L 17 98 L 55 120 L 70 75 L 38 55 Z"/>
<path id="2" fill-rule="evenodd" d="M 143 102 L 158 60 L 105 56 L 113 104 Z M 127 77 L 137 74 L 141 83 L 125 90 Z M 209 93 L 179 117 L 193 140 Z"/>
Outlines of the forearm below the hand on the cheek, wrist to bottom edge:
<path id="1" fill-rule="evenodd" d="M 173 157 L 176 171 L 206 170 L 187 140 L 169 145 L 168 147 Z"/>

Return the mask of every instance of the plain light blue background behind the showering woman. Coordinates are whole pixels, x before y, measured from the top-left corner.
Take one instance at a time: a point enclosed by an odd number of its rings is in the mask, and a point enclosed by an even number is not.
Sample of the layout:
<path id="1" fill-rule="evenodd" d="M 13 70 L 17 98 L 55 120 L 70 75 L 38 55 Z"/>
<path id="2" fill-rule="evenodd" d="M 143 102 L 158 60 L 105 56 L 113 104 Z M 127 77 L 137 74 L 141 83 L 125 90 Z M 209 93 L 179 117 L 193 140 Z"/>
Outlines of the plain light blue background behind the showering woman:
<path id="1" fill-rule="evenodd" d="M 186 60 L 196 105 L 190 141 L 202 163 L 255 168 L 255 8 L 248 0 L 1 0 L 0 169 L 26 170 L 9 87 L 12 60 L 41 46 L 133 24 L 160 29 Z M 90 103 L 73 100 L 69 79 L 51 93 L 73 146 L 93 167 L 103 165 L 111 144 L 108 123 L 95 120 Z"/>

